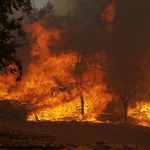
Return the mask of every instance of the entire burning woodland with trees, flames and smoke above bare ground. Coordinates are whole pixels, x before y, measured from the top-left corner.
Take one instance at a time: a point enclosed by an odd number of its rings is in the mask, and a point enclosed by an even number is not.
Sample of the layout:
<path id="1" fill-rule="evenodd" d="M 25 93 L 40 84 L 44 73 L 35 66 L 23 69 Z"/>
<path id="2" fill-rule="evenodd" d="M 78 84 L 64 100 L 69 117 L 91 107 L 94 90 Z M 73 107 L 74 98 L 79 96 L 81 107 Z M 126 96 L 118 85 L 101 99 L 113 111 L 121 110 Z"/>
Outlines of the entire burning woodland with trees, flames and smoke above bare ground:
<path id="1" fill-rule="evenodd" d="M 70 3 L 0 2 L 0 119 L 150 126 L 150 2 Z"/>

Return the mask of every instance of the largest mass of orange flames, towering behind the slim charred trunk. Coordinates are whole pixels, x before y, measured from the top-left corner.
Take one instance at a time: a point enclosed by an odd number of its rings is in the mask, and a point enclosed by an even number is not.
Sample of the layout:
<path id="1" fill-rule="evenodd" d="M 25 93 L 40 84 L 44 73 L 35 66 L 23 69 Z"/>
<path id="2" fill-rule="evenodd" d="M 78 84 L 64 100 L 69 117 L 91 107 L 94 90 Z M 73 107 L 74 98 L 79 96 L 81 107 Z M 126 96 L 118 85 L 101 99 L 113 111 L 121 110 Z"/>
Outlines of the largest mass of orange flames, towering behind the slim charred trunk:
<path id="1" fill-rule="evenodd" d="M 96 121 L 112 100 L 106 92 L 106 83 L 102 81 L 104 73 L 87 63 L 87 71 L 82 73 L 82 85 L 78 86 L 79 76 L 74 73 L 77 52 L 62 52 L 59 56 L 51 54 L 50 46 L 62 40 L 61 34 L 66 31 L 48 28 L 46 18 L 27 25 L 26 31 L 31 33 L 33 41 L 28 73 L 17 83 L 16 75 L 0 76 L 1 98 L 32 104 L 28 121 Z"/>

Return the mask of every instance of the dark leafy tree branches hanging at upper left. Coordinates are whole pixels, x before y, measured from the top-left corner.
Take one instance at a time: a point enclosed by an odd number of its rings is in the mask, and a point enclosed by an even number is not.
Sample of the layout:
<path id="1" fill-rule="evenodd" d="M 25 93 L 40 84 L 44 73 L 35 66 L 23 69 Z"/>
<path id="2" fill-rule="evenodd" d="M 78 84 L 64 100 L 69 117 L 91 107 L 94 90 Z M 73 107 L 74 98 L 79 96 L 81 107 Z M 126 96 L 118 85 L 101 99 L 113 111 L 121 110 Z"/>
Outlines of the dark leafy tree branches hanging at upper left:
<path id="1" fill-rule="evenodd" d="M 21 61 L 16 55 L 16 48 L 21 47 L 23 44 L 19 44 L 16 37 L 24 37 L 25 32 L 22 29 L 20 18 L 11 18 L 10 16 L 14 14 L 14 11 L 26 11 L 30 12 L 32 10 L 31 0 L 1 0 L 0 1 L 0 70 L 7 73 L 15 73 L 17 70 L 9 68 L 10 64 L 15 63 L 20 71 L 20 76 L 22 76 L 22 65 Z M 17 34 L 17 35 L 16 35 Z"/>

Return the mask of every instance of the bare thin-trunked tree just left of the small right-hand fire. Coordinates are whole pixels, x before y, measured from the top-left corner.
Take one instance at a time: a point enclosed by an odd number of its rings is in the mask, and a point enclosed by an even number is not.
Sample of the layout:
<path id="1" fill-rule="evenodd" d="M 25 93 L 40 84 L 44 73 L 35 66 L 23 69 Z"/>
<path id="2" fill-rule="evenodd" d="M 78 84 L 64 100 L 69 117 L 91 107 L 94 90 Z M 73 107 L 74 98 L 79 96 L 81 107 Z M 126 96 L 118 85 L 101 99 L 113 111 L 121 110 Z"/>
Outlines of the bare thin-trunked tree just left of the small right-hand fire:
<path id="1" fill-rule="evenodd" d="M 131 59 L 132 57 L 132 59 Z M 128 58 L 128 62 L 124 60 Z M 124 123 L 127 124 L 128 107 L 133 106 L 136 101 L 143 100 L 145 94 L 145 64 L 148 55 L 144 58 L 134 55 L 113 58 L 108 75 L 113 81 L 113 91 L 119 96 L 124 109 Z M 115 85 L 115 86 L 114 86 Z"/>

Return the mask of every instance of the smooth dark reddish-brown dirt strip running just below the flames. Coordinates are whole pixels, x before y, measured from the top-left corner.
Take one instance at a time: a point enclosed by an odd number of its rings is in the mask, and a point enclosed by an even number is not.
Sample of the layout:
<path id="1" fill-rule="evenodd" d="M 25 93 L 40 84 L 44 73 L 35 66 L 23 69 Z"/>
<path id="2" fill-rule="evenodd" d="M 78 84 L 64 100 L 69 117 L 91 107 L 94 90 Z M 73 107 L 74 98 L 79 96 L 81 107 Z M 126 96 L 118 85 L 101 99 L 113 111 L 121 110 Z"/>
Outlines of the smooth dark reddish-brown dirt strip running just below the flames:
<path id="1" fill-rule="evenodd" d="M 88 122 L 25 122 L 0 121 L 0 126 L 38 131 L 68 142 L 107 141 L 110 144 L 138 145 L 150 150 L 150 128 L 123 124 Z"/>

